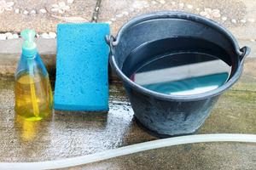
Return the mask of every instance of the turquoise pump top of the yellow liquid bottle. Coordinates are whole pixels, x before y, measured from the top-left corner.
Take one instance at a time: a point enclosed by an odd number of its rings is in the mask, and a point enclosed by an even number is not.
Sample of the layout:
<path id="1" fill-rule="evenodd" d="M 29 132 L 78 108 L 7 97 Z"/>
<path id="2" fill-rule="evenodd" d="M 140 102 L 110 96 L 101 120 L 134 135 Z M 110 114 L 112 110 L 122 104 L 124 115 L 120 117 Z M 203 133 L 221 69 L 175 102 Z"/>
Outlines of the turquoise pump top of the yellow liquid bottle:
<path id="1" fill-rule="evenodd" d="M 27 58 L 33 58 L 38 53 L 37 45 L 34 42 L 36 32 L 30 29 L 21 31 L 21 37 L 24 39 L 22 45 L 22 54 Z"/>

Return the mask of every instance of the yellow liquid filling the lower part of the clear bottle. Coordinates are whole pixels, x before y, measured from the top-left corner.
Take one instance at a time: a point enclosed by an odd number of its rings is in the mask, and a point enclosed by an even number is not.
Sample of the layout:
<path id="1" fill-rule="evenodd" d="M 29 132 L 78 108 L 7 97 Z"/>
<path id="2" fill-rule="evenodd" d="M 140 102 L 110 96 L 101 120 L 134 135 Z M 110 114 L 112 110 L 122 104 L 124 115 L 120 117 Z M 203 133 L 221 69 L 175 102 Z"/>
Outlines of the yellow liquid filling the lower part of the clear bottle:
<path id="1" fill-rule="evenodd" d="M 21 75 L 15 82 L 15 112 L 29 121 L 51 114 L 52 91 L 49 77 Z"/>

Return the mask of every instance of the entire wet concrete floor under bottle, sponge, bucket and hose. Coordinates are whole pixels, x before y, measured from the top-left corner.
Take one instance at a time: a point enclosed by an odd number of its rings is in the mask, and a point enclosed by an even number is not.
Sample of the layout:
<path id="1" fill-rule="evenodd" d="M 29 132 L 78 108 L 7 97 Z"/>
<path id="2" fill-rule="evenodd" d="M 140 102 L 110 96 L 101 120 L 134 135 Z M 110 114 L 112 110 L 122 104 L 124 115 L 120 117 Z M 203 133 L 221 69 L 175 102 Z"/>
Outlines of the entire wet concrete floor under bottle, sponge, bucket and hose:
<path id="1" fill-rule="evenodd" d="M 20 117 L 15 116 L 13 88 L 12 79 L 2 78 L 0 80 L 0 135 L 2 138 L 0 140 L 2 146 L 0 161 L 57 160 L 157 139 L 144 131 L 134 121 L 131 105 L 119 83 L 114 83 L 110 87 L 110 111 L 108 113 L 55 111 L 52 118 L 44 122 L 24 122 Z M 198 133 L 256 133 L 255 110 L 255 91 L 229 90 L 219 99 L 211 116 Z M 218 153 L 216 150 L 220 150 L 219 148 L 226 150 L 226 153 L 224 155 Z M 192 144 L 167 150 L 152 150 L 90 166 L 92 169 L 105 169 L 106 166 L 110 166 L 111 169 L 112 167 L 119 169 L 120 166 L 127 166 L 126 169 L 131 169 L 127 165 L 131 164 L 131 166 L 141 166 L 138 169 L 143 169 L 148 166 L 148 163 L 161 168 L 166 162 L 169 162 L 162 167 L 168 169 L 177 167 L 178 162 L 180 162 L 181 169 L 183 169 L 184 166 L 189 165 L 182 162 L 188 161 L 187 159 L 192 156 L 192 160 L 189 161 L 190 164 L 192 163 L 192 169 L 196 169 L 198 166 L 196 161 L 200 162 L 205 159 L 209 165 L 219 161 L 218 166 L 223 164 L 228 166 L 232 164 L 231 162 L 236 162 L 234 166 L 238 166 L 239 169 L 240 164 L 236 160 L 241 161 L 241 158 L 246 159 L 249 155 L 255 155 L 256 148 L 255 144 L 230 143 L 196 144 L 195 146 Z M 196 156 L 196 153 L 201 150 L 203 151 L 202 158 Z M 241 150 L 244 151 L 241 152 Z M 233 152 L 237 152 L 236 155 L 232 154 Z M 240 153 L 242 154 L 241 157 Z M 216 154 L 225 159 L 218 158 Z M 148 161 L 150 156 L 151 159 L 154 158 L 155 163 Z M 175 159 L 171 159 L 172 156 Z M 245 166 L 252 167 L 255 161 L 252 159 L 247 159 Z M 201 164 L 202 169 L 207 166 Z M 215 167 L 213 166 L 212 169 Z"/>

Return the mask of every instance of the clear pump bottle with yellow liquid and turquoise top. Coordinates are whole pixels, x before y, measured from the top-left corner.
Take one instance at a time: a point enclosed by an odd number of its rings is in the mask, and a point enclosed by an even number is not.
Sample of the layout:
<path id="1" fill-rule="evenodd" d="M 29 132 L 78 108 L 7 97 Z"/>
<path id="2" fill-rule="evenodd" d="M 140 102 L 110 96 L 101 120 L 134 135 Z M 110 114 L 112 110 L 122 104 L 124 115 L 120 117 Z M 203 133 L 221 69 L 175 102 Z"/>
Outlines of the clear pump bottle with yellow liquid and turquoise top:
<path id="1" fill-rule="evenodd" d="M 21 32 L 24 42 L 15 72 L 15 112 L 28 121 L 49 116 L 53 103 L 49 74 L 38 54 L 35 35 L 28 29 Z"/>

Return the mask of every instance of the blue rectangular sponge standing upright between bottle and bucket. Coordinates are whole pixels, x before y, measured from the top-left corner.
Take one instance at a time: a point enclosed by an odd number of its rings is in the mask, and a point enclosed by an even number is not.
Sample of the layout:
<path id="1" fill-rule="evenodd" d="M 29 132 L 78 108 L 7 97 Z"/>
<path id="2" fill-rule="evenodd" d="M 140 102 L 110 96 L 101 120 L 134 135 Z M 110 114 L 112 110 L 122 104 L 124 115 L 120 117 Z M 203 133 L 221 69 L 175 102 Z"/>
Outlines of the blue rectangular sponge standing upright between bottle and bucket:
<path id="1" fill-rule="evenodd" d="M 108 111 L 108 54 L 103 23 L 57 26 L 55 110 Z"/>

